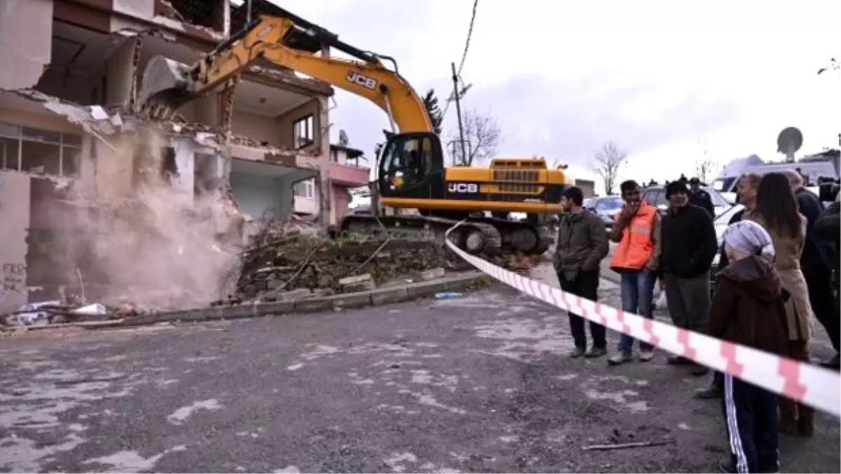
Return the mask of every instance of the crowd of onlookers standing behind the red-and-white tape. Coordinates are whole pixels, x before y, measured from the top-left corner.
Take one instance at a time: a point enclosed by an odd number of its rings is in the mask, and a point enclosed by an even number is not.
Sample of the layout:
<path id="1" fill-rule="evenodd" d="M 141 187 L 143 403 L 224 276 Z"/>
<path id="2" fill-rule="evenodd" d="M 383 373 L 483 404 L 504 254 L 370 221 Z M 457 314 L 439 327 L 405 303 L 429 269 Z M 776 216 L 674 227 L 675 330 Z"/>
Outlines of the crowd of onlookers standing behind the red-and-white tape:
<path id="1" fill-rule="evenodd" d="M 622 182 L 620 190 L 624 204 L 610 231 L 582 208 L 579 188 L 563 193 L 554 266 L 564 291 L 597 299 L 600 261 L 612 240 L 617 245 L 610 266 L 621 276 L 624 311 L 653 318 L 654 287 L 660 281 L 675 326 L 806 362 L 817 319 L 836 350 L 821 364 L 841 369 L 841 251 L 835 252 L 841 245 L 841 193 L 824 208 L 803 186 L 800 173 L 748 173 L 738 183 L 744 209 L 733 216 L 719 245 L 711 204 L 705 203 L 709 196 L 705 199 L 695 179 L 666 184 L 669 209 L 662 215 L 641 199 L 637 182 Z M 584 319 L 569 313 L 569 324 L 575 344 L 570 356 L 607 355 L 603 326 L 590 322 L 588 349 Z M 634 361 L 633 345 L 632 337 L 621 334 L 608 363 Z M 653 357 L 653 346 L 639 341 L 636 359 Z M 683 357 L 669 357 L 667 363 L 688 366 L 697 377 L 708 373 L 706 366 Z M 814 434 L 812 408 L 727 374 L 713 374 L 710 387 L 697 396 L 723 400 L 731 447 L 730 458 L 719 465 L 724 472 L 776 472 L 777 432 Z"/>

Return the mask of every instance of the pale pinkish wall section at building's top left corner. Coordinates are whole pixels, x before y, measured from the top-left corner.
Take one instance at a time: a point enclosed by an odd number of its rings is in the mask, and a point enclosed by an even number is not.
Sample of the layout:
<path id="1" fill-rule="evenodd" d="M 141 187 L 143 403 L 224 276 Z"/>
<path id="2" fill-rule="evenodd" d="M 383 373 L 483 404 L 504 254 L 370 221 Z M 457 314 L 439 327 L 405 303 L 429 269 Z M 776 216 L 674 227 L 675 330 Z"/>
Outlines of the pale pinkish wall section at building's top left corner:
<path id="1" fill-rule="evenodd" d="M 0 2 L 0 88 L 33 87 L 50 64 L 52 9 L 52 0 Z"/>

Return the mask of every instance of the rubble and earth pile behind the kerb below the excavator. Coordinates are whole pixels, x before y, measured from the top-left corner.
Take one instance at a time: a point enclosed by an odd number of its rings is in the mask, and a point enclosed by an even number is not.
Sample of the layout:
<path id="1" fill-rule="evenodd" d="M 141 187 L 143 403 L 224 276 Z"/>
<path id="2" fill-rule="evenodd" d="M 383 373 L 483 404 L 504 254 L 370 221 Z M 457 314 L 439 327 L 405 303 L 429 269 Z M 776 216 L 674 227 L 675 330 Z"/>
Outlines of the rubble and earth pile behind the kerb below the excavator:
<path id="1" fill-rule="evenodd" d="M 235 294 L 216 304 L 279 301 L 297 290 L 325 295 L 372 289 L 445 263 L 439 240 L 357 234 L 327 239 L 307 234 L 298 222 L 275 221 L 243 253 Z"/>

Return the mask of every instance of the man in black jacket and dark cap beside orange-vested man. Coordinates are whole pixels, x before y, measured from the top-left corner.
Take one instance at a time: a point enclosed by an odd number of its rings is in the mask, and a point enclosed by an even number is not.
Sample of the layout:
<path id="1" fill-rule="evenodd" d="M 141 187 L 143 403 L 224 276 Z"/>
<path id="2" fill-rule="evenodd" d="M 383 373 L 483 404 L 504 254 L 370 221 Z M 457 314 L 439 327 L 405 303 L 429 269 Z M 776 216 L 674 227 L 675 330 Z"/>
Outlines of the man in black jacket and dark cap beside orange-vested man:
<path id="1" fill-rule="evenodd" d="M 716 229 L 706 210 L 689 203 L 683 182 L 666 186 L 669 212 L 661 227 L 666 299 L 675 326 L 706 334 L 709 330 L 710 266 L 718 251 Z M 692 374 L 706 375 L 705 366 L 683 357 L 669 357 L 672 365 L 694 365 Z"/>

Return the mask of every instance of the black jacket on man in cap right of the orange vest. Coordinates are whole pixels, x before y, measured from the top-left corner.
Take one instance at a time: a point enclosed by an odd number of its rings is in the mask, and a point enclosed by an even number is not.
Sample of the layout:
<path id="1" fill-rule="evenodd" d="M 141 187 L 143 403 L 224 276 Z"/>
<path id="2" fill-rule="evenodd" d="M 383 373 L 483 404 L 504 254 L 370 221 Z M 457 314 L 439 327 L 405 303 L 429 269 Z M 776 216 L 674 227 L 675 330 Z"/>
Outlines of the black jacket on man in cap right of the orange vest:
<path id="1" fill-rule="evenodd" d="M 716 228 L 708 213 L 686 204 L 669 209 L 660 227 L 663 240 L 661 266 L 664 273 L 692 278 L 710 271 L 718 251 Z"/>

